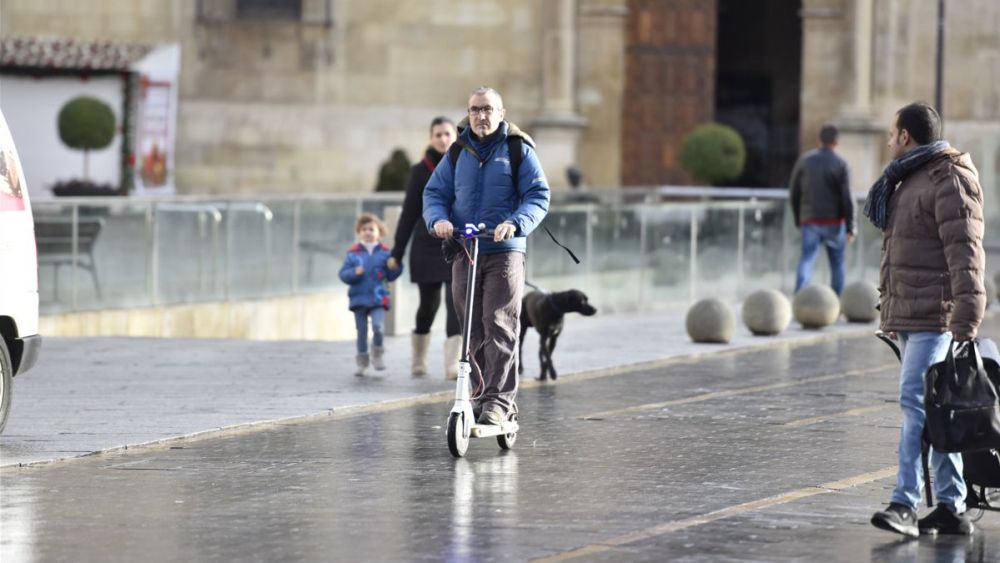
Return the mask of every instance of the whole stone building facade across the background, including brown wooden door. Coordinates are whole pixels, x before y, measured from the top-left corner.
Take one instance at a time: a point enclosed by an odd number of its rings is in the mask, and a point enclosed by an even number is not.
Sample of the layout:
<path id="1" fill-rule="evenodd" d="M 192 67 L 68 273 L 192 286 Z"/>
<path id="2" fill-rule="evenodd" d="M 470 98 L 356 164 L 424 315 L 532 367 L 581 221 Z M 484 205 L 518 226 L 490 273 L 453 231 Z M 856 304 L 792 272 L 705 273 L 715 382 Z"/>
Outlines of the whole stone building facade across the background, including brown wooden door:
<path id="1" fill-rule="evenodd" d="M 753 63 L 777 67 L 768 112 L 792 131 L 765 142 L 787 162 L 833 121 L 863 191 L 893 111 L 933 102 L 937 0 L 760 1 L 746 41 L 801 44 Z M 688 182 L 680 142 L 716 117 L 720 73 L 742 64 L 718 48 L 733 2 L 745 0 L 4 0 L 0 35 L 180 43 L 183 193 L 371 190 L 394 148 L 417 157 L 430 119 L 460 118 L 481 84 L 536 138 L 557 187 L 569 164 L 591 186 L 659 185 Z M 1000 2 L 947 4 L 946 135 L 995 193 Z M 790 23 L 774 28 L 769 9 Z"/>

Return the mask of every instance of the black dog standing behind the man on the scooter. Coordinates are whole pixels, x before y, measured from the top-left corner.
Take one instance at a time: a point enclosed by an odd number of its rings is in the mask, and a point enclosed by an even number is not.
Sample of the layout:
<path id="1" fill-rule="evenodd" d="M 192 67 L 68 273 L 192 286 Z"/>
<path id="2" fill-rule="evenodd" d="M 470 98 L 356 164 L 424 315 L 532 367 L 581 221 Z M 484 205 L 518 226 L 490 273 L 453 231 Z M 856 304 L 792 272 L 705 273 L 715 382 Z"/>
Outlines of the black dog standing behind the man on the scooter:
<path id="1" fill-rule="evenodd" d="M 544 381 L 546 377 L 555 379 L 557 377 L 555 365 L 552 363 L 552 352 L 556 349 L 556 340 L 562 332 L 563 317 L 566 313 L 580 313 L 589 317 L 597 312 L 592 305 L 587 303 L 587 295 L 582 291 L 571 289 L 569 291 L 558 291 L 556 293 L 544 293 L 542 291 L 532 291 L 524 296 L 521 302 L 521 344 L 518 356 L 517 372 L 524 373 L 524 335 L 530 327 L 535 327 L 541 335 L 538 346 L 538 359 L 542 364 L 542 373 L 538 379 Z"/>

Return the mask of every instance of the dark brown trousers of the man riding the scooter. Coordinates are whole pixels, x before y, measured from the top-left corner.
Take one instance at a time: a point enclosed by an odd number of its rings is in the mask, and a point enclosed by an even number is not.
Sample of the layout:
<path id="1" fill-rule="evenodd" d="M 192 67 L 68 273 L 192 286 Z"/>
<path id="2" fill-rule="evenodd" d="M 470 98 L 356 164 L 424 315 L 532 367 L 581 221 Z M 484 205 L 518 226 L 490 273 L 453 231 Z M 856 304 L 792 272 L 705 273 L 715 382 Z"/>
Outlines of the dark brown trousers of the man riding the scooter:
<path id="1" fill-rule="evenodd" d="M 451 289 L 456 311 L 463 322 L 468 271 L 466 257 L 455 260 L 452 265 Z M 523 252 L 479 256 L 469 348 L 473 351 L 473 372 L 483 378 L 484 388 L 479 398 L 483 410 L 507 412 L 514 405 L 523 290 Z"/>

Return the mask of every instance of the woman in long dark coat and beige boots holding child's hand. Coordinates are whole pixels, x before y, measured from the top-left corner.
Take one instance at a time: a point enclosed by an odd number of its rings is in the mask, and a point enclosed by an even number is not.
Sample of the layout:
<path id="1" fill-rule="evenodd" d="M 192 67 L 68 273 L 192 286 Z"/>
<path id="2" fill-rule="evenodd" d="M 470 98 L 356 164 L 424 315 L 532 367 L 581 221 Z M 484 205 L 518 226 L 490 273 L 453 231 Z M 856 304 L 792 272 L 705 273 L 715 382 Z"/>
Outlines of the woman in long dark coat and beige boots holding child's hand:
<path id="1" fill-rule="evenodd" d="M 410 280 L 420 290 L 420 305 L 417 307 L 416 328 L 411 336 L 413 350 L 413 375 L 427 373 L 427 348 L 430 346 L 431 325 L 441 306 L 441 287 L 444 286 L 446 334 L 444 343 L 445 377 L 458 377 L 458 360 L 462 347 L 462 327 L 455 314 L 455 303 L 451 294 L 451 266 L 444 261 L 441 253 L 441 239 L 427 232 L 421 220 L 424 211 L 424 186 L 434 169 L 444 158 L 448 148 L 455 141 L 455 124 L 447 117 L 436 117 L 431 122 L 431 144 L 427 147 L 423 160 L 413 165 L 406 182 L 406 196 L 403 212 L 396 225 L 396 241 L 392 247 L 390 266 L 403 259 L 406 245 L 413 237 L 410 247 Z"/>

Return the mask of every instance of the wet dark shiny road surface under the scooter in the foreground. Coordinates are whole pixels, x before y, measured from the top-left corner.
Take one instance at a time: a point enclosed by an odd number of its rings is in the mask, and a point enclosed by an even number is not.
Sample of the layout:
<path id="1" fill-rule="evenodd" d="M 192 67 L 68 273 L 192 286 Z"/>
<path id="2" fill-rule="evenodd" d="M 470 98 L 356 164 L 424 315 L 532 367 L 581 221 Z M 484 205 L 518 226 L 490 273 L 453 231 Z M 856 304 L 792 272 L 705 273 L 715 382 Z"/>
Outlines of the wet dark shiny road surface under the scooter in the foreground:
<path id="1" fill-rule="evenodd" d="M 845 334 L 528 387 L 515 448 L 459 460 L 442 397 L 8 466 L 0 560 L 1000 560 L 1000 514 L 971 538 L 868 524 L 897 373 Z"/>

